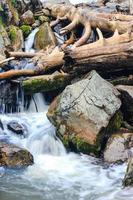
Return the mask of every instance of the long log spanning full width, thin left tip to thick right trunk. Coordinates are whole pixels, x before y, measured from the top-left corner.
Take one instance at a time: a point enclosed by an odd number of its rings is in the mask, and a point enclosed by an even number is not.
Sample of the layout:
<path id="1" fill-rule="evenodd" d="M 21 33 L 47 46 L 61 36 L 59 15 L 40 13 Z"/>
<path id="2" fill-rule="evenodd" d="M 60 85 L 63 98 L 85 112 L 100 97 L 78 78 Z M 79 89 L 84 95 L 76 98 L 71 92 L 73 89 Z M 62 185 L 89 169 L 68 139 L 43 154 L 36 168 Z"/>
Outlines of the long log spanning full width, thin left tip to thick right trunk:
<path id="1" fill-rule="evenodd" d="M 101 74 L 108 72 L 118 74 L 119 70 L 131 71 L 132 63 L 133 41 L 99 48 L 90 48 L 90 45 L 87 48 L 85 45 L 65 52 L 54 52 L 48 57 L 42 56 L 38 59 L 35 70 L 10 70 L 1 73 L 0 79 L 46 74 L 48 71 L 62 67 L 66 73 L 74 76 L 85 74 L 93 69 Z"/>

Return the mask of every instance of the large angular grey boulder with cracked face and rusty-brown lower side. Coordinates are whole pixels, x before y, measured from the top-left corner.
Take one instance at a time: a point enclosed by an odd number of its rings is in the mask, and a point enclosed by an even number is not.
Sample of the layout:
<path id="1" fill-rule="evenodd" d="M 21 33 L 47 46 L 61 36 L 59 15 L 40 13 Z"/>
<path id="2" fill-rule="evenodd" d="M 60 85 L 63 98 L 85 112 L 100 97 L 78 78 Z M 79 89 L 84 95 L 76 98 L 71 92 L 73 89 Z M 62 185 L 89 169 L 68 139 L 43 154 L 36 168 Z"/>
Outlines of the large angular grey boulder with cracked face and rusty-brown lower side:
<path id="1" fill-rule="evenodd" d="M 113 85 L 91 71 L 87 78 L 66 87 L 47 116 L 67 147 L 97 154 L 109 134 L 121 126 L 118 96 Z"/>

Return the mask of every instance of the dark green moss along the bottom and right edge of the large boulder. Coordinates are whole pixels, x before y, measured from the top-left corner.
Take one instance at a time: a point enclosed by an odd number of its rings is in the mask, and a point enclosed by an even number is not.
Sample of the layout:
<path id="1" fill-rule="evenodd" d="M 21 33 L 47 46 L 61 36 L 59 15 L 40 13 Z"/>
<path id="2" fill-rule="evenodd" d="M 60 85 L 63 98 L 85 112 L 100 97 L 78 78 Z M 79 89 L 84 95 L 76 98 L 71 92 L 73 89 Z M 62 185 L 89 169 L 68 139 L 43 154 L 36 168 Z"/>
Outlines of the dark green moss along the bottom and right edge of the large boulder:
<path id="1" fill-rule="evenodd" d="M 83 138 L 79 137 L 68 127 L 68 130 L 65 131 L 65 134 L 61 135 L 60 129 L 57 130 L 57 135 L 62 140 L 66 148 L 71 149 L 76 152 L 82 152 L 85 154 L 93 154 L 99 156 L 102 150 L 105 148 L 105 144 L 110 134 L 116 132 L 120 129 L 122 124 L 122 113 L 118 111 L 110 120 L 109 125 L 106 129 L 102 129 L 97 135 L 97 139 L 94 145 L 91 145 L 84 141 Z M 64 122 L 65 124 L 65 122 Z M 67 125 L 65 126 L 67 128 Z"/>

